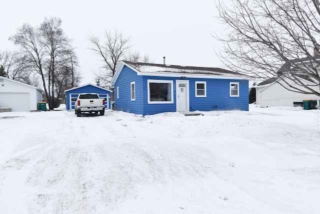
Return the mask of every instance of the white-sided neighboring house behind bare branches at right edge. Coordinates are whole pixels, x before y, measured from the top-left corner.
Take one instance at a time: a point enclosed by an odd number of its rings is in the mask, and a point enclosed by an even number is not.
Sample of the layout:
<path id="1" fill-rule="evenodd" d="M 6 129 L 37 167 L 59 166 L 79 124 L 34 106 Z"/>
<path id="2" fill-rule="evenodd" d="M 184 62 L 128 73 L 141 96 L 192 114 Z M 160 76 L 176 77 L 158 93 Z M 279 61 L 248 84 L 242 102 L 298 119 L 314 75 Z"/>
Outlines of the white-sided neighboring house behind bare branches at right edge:
<path id="1" fill-rule="evenodd" d="M 319 61 L 319 59 L 320 55 L 314 55 L 313 57 L 292 60 L 295 68 L 288 63 L 284 63 L 278 70 L 277 77 L 272 77 L 254 86 L 256 89 L 256 105 L 260 107 L 290 107 L 299 105 L 297 103 L 302 103 L 305 99 L 320 99 L 316 95 L 294 92 L 308 91 L 303 86 L 319 92 L 319 82 L 308 76 L 310 69 L 317 68 L 318 63 L 315 63 L 315 61 Z M 300 83 L 297 84 L 295 81 Z"/>

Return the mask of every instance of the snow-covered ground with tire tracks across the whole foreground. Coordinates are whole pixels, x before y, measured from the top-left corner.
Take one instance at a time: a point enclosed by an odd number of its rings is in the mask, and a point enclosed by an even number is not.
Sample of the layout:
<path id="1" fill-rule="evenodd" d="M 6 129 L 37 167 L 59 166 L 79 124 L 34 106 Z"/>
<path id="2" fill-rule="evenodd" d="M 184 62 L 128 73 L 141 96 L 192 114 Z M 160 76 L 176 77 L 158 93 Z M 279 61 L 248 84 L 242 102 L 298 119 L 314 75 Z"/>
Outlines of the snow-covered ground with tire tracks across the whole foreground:
<path id="1" fill-rule="evenodd" d="M 317 110 L 0 113 L 1 213 L 319 213 Z"/>

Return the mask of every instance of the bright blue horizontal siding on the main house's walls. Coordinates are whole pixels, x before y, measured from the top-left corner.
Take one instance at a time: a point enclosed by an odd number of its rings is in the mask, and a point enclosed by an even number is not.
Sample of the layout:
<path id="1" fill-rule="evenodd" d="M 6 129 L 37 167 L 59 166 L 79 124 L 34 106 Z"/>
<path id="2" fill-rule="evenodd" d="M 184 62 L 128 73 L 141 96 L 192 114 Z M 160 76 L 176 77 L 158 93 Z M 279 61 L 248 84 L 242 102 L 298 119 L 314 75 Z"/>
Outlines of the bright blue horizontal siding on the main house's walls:
<path id="1" fill-rule="evenodd" d="M 173 103 L 148 104 L 147 80 L 172 80 Z M 189 110 L 244 110 L 248 111 L 248 80 L 203 79 L 178 77 L 138 76 L 135 71 L 124 66 L 114 84 L 114 101 L 117 110 L 135 114 L 157 114 L 176 111 L 176 80 L 189 82 Z M 195 97 L 195 81 L 206 82 L 206 97 Z M 135 82 L 135 101 L 131 101 L 130 83 Z M 239 96 L 230 97 L 230 82 L 239 83 Z M 119 99 L 117 90 L 119 87 Z"/>

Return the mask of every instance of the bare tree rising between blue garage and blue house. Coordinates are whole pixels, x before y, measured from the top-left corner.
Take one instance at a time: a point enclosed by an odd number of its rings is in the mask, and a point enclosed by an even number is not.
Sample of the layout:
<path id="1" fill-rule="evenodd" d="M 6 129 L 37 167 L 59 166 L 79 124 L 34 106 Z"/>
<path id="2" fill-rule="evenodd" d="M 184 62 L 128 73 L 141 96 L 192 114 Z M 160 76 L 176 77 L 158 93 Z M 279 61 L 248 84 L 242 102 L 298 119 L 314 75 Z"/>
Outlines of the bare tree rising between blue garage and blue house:
<path id="1" fill-rule="evenodd" d="M 116 30 L 114 32 L 105 31 L 104 39 L 101 42 L 98 37 L 92 35 L 89 41 L 92 45 L 90 50 L 100 56 L 103 62 L 103 70 L 96 73 L 95 76 L 106 85 L 111 81 L 117 66 L 129 52 L 131 45 L 129 44 L 130 37 L 125 37 Z"/>

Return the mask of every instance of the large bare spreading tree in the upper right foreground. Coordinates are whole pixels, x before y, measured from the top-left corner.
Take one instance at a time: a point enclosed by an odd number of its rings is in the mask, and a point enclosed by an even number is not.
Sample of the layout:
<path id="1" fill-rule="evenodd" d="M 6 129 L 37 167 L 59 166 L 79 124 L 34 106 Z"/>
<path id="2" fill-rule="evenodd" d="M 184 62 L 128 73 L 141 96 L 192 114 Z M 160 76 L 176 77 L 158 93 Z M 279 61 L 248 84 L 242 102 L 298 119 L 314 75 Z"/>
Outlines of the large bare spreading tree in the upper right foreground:
<path id="1" fill-rule="evenodd" d="M 264 79 L 277 77 L 287 90 L 320 96 L 314 87 L 320 82 L 319 1 L 234 0 L 231 6 L 222 1 L 216 6 L 229 30 L 226 37 L 215 36 L 225 44 L 219 56 L 228 68 Z"/>

